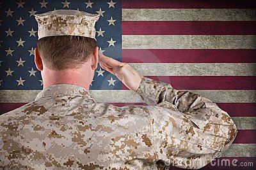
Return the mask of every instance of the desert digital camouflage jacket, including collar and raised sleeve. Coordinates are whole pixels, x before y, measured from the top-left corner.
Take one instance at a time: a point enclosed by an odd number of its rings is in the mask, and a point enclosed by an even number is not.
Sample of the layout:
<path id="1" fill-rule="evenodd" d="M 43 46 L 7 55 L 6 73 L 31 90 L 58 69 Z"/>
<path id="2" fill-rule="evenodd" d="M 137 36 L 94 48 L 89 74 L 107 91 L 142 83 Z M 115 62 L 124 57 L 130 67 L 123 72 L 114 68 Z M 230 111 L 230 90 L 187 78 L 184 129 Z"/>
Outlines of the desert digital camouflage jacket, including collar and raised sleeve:
<path id="1" fill-rule="evenodd" d="M 0 117 L 0 169 L 197 169 L 231 145 L 230 116 L 209 99 L 143 78 L 149 106 L 97 103 L 51 85 Z"/>

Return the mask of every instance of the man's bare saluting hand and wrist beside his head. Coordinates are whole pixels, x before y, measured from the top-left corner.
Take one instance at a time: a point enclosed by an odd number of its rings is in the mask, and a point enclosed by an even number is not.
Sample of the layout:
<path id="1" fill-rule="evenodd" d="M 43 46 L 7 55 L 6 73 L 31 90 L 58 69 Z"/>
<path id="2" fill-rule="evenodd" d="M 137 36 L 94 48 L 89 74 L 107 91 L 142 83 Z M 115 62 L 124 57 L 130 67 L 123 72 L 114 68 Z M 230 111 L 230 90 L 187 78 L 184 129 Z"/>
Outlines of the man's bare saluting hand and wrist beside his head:
<path id="1" fill-rule="evenodd" d="M 135 71 L 129 64 L 107 57 L 99 53 L 100 67 L 106 69 L 109 73 L 115 75 L 126 87 L 136 92 L 140 81 L 144 77 Z"/>

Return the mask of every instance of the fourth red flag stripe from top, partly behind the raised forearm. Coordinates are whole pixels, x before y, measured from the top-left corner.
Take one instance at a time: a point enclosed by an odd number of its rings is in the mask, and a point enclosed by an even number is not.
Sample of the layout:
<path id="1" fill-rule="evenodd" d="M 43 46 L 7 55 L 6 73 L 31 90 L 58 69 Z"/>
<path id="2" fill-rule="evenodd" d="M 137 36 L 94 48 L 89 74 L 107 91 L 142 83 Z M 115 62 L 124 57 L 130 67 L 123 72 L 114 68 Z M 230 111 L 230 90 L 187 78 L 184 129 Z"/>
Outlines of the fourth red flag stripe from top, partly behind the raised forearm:
<path id="1" fill-rule="evenodd" d="M 256 90 L 256 76 L 146 76 L 186 90 Z M 128 88 L 122 83 L 122 89 Z"/>

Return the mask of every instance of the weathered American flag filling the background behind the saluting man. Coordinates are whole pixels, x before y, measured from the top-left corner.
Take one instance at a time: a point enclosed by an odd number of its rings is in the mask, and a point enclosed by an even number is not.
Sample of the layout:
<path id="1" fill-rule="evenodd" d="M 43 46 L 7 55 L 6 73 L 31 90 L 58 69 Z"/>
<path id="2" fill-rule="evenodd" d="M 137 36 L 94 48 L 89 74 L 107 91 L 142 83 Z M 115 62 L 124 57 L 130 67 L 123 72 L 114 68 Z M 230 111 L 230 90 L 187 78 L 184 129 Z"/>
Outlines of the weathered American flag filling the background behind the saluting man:
<path id="1" fill-rule="evenodd" d="M 99 13 L 100 52 L 148 78 L 202 94 L 236 122 L 234 144 L 203 169 L 255 169 L 255 1 L 8 0 L 0 6 L 0 114 L 33 101 L 42 90 L 33 61 L 33 15 L 54 9 Z M 100 66 L 90 93 L 116 106 L 145 104 Z"/>

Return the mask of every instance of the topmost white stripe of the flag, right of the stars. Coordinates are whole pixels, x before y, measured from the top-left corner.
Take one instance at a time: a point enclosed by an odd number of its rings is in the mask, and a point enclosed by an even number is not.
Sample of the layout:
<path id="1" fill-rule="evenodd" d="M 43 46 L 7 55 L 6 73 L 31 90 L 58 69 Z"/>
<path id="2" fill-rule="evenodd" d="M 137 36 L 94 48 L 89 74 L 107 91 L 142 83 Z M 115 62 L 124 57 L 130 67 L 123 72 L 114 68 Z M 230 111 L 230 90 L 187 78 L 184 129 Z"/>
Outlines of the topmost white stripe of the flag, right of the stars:
<path id="1" fill-rule="evenodd" d="M 256 11 L 254 9 L 122 9 L 122 21 L 255 20 Z"/>

